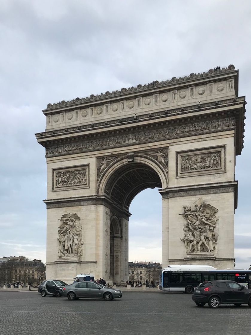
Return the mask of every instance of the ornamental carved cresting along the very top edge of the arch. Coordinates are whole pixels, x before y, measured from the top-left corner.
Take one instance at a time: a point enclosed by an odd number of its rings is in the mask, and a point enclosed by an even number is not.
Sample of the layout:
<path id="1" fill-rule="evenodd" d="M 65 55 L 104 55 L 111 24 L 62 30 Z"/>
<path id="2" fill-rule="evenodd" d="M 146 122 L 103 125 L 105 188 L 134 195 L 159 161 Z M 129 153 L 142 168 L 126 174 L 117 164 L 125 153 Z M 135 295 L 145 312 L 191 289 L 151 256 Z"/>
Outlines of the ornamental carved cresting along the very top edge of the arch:
<path id="1" fill-rule="evenodd" d="M 111 99 L 111 98 L 119 98 L 128 94 L 133 94 L 133 93 L 143 93 L 146 90 L 149 89 L 158 89 L 158 88 L 162 88 L 162 87 L 166 87 L 166 86 L 173 86 L 175 84 L 181 84 L 181 83 L 189 83 L 190 81 L 196 81 L 196 80 L 201 80 L 201 79 L 210 79 L 212 77 L 217 77 L 219 75 L 224 75 L 226 73 L 231 73 L 235 70 L 234 65 L 229 65 L 226 68 L 222 68 L 222 69 L 210 69 L 207 72 L 203 72 L 203 73 L 190 73 L 189 76 L 185 76 L 185 77 L 173 77 L 171 80 L 165 80 L 165 81 L 161 81 L 159 82 L 158 80 L 155 80 L 151 83 L 145 84 L 145 85 L 137 85 L 136 87 L 129 87 L 129 88 L 121 88 L 120 90 L 116 90 L 113 92 L 109 92 L 106 91 L 105 93 L 101 93 L 101 94 L 91 94 L 89 97 L 86 98 L 75 98 L 71 101 L 65 101 L 62 100 L 59 103 L 55 103 L 55 104 L 48 104 L 47 105 L 47 110 L 50 109 L 56 109 L 56 108 L 64 108 L 70 105 L 75 105 L 75 106 L 79 106 L 80 104 L 83 103 L 92 103 L 92 102 L 96 102 L 99 100 L 104 100 L 104 99 Z"/>

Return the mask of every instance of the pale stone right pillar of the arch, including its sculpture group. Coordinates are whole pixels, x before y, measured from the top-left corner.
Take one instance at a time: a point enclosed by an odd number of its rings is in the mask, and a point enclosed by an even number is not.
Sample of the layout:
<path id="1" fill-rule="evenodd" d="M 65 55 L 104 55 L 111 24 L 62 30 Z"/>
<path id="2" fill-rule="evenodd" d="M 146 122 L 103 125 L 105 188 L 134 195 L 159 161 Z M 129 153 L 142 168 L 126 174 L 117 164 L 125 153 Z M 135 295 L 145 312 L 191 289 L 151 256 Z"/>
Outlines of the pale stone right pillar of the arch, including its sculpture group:
<path id="1" fill-rule="evenodd" d="M 196 195 L 170 191 L 163 199 L 163 268 L 192 264 L 234 269 L 235 188 L 206 188 L 201 194 L 197 188 Z"/>

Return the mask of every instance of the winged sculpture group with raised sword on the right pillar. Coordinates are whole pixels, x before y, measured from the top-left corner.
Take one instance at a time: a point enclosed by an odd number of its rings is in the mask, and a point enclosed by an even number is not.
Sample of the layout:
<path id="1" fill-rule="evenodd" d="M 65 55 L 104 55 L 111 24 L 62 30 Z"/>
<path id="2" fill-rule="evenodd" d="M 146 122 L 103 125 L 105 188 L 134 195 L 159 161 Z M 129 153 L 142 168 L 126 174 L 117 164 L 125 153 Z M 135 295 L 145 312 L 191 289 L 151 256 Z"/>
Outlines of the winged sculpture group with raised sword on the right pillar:
<path id="1" fill-rule="evenodd" d="M 218 209 L 206 204 L 201 198 L 197 200 L 194 208 L 183 206 L 186 223 L 183 231 L 184 242 L 188 253 L 213 252 L 217 244 L 218 234 L 215 231 L 218 218 L 215 216 Z"/>

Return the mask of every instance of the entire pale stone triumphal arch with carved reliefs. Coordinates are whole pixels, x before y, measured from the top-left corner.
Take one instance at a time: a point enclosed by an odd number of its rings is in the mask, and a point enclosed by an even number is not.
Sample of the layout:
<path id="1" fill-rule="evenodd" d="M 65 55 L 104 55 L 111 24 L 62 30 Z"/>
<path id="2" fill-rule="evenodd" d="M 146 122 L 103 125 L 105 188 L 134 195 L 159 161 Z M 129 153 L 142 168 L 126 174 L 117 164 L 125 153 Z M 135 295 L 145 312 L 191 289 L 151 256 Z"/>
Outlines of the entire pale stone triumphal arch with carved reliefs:
<path id="1" fill-rule="evenodd" d="M 245 97 L 233 65 L 43 110 L 47 277 L 128 279 L 132 199 L 159 188 L 163 266 L 234 266 L 235 156 Z"/>

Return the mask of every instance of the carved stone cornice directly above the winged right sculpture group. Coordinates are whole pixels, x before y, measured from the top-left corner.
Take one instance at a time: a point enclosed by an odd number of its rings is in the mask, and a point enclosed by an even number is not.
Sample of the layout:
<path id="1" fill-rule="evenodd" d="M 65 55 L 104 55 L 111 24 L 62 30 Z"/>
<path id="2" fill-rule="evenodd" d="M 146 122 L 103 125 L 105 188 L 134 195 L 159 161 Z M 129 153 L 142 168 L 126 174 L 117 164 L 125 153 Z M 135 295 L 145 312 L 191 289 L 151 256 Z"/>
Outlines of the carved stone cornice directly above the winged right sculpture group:
<path id="1" fill-rule="evenodd" d="M 238 181 L 233 181 L 225 183 L 223 182 L 182 187 L 170 187 L 165 190 L 160 190 L 159 192 L 162 195 L 162 199 L 234 192 L 234 207 L 236 209 L 238 195 L 237 191 Z"/>

